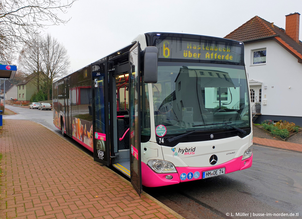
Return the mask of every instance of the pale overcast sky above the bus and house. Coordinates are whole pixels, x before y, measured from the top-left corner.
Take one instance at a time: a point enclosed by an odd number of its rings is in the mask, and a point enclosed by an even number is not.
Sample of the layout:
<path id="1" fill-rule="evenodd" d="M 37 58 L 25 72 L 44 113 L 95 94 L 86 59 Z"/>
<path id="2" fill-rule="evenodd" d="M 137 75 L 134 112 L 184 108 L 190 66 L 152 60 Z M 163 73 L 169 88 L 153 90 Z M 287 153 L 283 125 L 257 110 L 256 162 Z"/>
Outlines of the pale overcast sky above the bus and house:
<path id="1" fill-rule="evenodd" d="M 45 31 L 65 45 L 71 70 L 75 71 L 130 44 L 140 33 L 224 37 L 255 15 L 285 29 L 285 15 L 302 14 L 301 3 L 301 0 L 78 0 L 61 16 L 72 17 L 67 24 Z M 300 40 L 301 33 L 300 30 Z"/>

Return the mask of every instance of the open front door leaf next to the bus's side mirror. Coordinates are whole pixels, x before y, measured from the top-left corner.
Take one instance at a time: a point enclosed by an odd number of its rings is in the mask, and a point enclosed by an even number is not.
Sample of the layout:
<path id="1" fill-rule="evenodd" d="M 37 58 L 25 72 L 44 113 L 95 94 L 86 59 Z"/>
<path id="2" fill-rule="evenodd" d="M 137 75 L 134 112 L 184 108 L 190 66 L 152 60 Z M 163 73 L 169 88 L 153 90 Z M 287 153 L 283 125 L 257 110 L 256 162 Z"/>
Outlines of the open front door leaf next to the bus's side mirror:
<path id="1" fill-rule="evenodd" d="M 130 131 L 130 179 L 140 195 L 142 191 L 142 167 L 140 152 L 140 44 L 137 42 L 129 52 L 129 131 Z"/>

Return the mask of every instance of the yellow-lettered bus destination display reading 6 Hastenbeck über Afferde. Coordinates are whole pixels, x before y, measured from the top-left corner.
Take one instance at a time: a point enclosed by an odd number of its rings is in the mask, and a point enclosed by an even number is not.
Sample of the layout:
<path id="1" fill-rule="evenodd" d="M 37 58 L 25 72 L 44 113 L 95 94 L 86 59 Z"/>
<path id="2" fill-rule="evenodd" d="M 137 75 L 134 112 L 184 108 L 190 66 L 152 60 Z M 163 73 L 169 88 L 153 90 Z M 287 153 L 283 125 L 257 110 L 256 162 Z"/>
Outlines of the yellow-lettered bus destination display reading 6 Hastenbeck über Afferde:
<path id="1" fill-rule="evenodd" d="M 240 63 L 242 47 L 232 43 L 165 37 L 156 40 L 159 57 L 164 59 L 193 59 Z"/>

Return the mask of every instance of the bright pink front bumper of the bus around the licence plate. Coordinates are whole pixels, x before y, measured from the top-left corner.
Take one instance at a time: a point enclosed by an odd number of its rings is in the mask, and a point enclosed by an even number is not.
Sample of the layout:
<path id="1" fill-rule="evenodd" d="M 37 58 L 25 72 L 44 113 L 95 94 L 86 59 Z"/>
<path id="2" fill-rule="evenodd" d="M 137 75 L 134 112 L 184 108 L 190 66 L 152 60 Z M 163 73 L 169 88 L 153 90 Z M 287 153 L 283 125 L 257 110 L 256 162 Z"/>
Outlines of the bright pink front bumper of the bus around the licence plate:
<path id="1" fill-rule="evenodd" d="M 253 154 L 251 157 L 242 160 L 242 156 L 238 158 L 234 158 L 226 163 L 213 166 L 213 167 L 176 167 L 178 173 L 170 173 L 170 174 L 158 174 L 155 173 L 147 164 L 142 162 L 142 184 L 147 187 L 158 187 L 158 186 L 168 186 L 172 184 L 177 184 L 181 182 L 187 182 L 192 180 L 201 180 L 202 172 L 212 171 L 216 169 L 225 168 L 225 174 L 244 170 L 252 166 Z M 181 180 L 181 175 L 187 175 L 192 173 L 195 174 L 198 172 L 199 177 L 192 177 L 188 179 L 186 177 L 184 180 Z M 171 175 L 173 178 L 171 180 L 167 180 L 166 176 Z M 197 176 L 195 174 L 195 176 Z"/>

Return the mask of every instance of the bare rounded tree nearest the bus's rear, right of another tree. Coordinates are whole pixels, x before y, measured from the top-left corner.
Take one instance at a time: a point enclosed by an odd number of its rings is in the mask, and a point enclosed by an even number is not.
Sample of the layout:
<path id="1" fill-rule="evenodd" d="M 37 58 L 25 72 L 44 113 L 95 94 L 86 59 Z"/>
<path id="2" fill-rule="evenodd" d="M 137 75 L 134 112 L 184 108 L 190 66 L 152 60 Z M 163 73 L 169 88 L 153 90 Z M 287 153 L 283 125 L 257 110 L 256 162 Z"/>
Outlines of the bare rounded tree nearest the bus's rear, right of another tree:
<path id="1" fill-rule="evenodd" d="M 68 73 L 70 61 L 65 46 L 51 37 L 50 34 L 47 34 L 43 40 L 42 48 L 43 75 L 46 83 L 47 99 L 49 100 L 53 79 Z"/>

